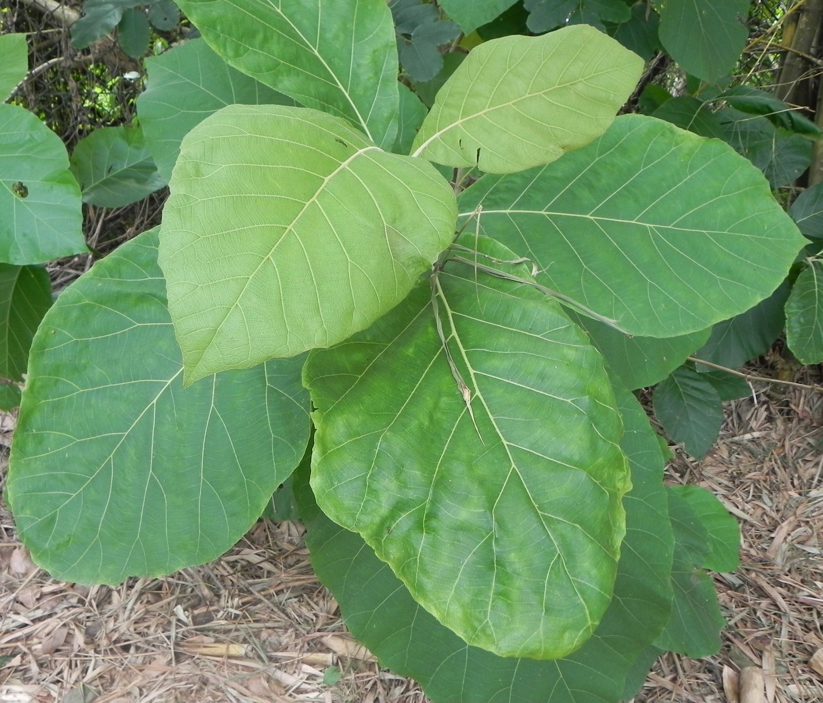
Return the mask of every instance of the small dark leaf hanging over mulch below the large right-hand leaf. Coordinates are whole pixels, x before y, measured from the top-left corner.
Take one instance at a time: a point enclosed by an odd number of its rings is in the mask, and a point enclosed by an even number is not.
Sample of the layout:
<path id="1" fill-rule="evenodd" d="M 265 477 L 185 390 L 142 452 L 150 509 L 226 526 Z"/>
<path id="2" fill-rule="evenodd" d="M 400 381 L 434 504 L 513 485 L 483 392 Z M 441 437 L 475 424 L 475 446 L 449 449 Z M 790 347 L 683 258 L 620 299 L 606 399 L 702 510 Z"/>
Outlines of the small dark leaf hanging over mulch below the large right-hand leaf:
<path id="1" fill-rule="evenodd" d="M 702 459 L 723 425 L 723 405 L 714 385 L 681 366 L 654 389 L 654 415 L 669 438 Z"/>

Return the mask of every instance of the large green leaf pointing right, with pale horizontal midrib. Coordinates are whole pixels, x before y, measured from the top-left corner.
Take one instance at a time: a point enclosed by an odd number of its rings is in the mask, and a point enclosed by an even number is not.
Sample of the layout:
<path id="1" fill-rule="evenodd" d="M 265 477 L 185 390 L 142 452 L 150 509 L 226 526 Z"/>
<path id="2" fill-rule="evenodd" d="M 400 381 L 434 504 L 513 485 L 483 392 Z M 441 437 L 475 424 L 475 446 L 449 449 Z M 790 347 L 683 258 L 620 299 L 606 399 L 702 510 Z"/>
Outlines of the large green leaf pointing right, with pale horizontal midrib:
<path id="1" fill-rule="evenodd" d="M 727 145 L 640 115 L 540 170 L 484 176 L 461 220 L 478 206 L 481 230 L 537 263 L 539 282 L 647 337 L 751 308 L 805 241 Z"/>

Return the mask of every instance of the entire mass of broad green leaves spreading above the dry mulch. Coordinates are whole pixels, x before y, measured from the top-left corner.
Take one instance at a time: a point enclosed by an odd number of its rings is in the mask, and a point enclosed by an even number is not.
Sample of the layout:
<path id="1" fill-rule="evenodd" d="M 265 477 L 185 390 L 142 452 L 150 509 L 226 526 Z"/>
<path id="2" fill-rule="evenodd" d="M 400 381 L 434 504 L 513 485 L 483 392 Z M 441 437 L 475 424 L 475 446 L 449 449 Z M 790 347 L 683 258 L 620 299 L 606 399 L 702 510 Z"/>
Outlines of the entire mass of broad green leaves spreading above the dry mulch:
<path id="1" fill-rule="evenodd" d="M 137 5 L 94 2 L 77 42 L 119 24 L 145 50 Z M 771 193 L 799 156 L 756 157 L 768 130 L 814 135 L 747 91 L 616 115 L 644 71 L 623 44 L 709 80 L 728 45 L 681 46 L 672 22 L 710 12 L 733 44 L 737 2 L 669 0 L 658 30 L 644 3 L 527 0 L 532 33 L 563 28 L 486 41 L 513 2 L 179 5 L 202 38 L 147 62 L 139 127 L 69 161 L 0 106 L 20 213 L 0 225 L 0 373 L 26 368 L 7 488 L 35 561 L 160 575 L 299 509 L 351 630 L 435 701 L 616 703 L 660 650 L 715 651 L 706 570 L 737 566 L 737 527 L 663 486 L 630 391 L 659 384 L 658 419 L 700 455 L 746 388 L 687 357 L 746 361 L 784 303 L 818 353 L 819 261 L 789 294 L 807 240 Z M 458 26 L 475 44 L 441 55 Z M 81 250 L 81 199 L 166 182 L 160 227 L 49 307 L 34 264 Z"/>

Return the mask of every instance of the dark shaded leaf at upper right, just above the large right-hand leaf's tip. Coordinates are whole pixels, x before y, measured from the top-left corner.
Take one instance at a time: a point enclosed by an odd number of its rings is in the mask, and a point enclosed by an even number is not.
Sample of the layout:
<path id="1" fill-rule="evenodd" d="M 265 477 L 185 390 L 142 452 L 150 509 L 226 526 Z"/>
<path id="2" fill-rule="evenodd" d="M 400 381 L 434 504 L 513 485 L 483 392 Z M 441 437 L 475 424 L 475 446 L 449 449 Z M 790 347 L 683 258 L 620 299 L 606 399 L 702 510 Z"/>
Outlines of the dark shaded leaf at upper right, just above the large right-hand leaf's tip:
<path id="1" fill-rule="evenodd" d="M 716 114 L 725 140 L 763 171 L 773 189 L 791 184 L 811 164 L 811 142 L 801 135 L 781 133 L 765 117 L 732 108 Z"/>

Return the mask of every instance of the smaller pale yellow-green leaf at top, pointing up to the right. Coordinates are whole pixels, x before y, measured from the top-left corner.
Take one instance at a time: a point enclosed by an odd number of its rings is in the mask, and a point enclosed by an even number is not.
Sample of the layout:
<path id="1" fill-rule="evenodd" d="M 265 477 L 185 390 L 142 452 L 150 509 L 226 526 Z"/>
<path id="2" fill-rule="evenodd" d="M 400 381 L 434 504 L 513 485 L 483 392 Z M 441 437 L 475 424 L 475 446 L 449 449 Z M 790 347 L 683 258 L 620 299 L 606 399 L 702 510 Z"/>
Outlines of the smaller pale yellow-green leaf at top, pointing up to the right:
<path id="1" fill-rule="evenodd" d="M 602 134 L 642 71 L 588 26 L 487 41 L 437 94 L 415 155 L 487 173 L 547 164 Z"/>

